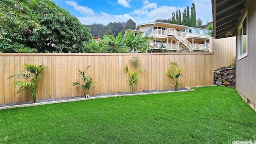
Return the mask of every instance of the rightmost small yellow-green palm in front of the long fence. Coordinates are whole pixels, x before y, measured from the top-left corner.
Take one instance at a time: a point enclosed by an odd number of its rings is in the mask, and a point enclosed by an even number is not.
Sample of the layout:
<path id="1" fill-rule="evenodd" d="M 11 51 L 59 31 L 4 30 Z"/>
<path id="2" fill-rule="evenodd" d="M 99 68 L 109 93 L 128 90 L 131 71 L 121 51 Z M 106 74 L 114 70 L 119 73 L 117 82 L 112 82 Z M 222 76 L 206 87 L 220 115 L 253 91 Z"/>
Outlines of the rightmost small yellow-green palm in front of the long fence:
<path id="1" fill-rule="evenodd" d="M 175 87 L 175 91 L 178 90 L 178 87 L 181 86 L 181 84 L 178 84 L 178 78 L 182 76 L 182 73 L 185 70 L 178 68 L 178 63 L 171 62 L 170 68 L 168 68 L 168 72 L 165 73 L 167 76 L 170 76 L 172 79 L 175 80 L 175 83 L 172 82 L 172 86 Z"/>

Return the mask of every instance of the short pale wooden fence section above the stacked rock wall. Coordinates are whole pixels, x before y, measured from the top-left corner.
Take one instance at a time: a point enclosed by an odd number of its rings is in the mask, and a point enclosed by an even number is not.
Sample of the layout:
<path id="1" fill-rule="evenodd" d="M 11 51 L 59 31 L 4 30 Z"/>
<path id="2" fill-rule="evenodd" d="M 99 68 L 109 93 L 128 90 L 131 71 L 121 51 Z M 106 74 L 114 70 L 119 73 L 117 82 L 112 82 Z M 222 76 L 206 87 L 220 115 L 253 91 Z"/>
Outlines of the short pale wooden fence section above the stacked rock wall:
<path id="1" fill-rule="evenodd" d="M 236 57 L 236 36 L 210 38 L 210 52 L 214 53 L 214 69 L 232 65 Z"/>

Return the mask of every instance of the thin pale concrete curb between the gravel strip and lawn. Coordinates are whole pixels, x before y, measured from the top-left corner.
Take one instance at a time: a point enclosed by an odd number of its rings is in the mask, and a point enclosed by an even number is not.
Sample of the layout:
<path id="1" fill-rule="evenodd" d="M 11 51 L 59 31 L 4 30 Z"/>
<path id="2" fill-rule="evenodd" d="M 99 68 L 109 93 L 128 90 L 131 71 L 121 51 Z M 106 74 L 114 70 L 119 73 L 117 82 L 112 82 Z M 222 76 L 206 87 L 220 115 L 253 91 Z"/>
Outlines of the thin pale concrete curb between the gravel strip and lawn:
<path id="1" fill-rule="evenodd" d="M 14 106 L 2 106 L 0 110 L 10 109 L 10 108 L 22 108 L 28 106 L 39 106 L 45 104 L 57 104 L 62 102 L 76 102 L 81 100 L 93 100 L 98 98 L 113 98 L 113 97 L 121 97 L 121 96 L 140 96 L 140 95 L 149 95 L 149 94 L 163 94 L 163 93 L 171 93 L 171 92 L 189 92 L 194 91 L 194 89 L 187 88 L 188 90 L 179 90 L 179 91 L 166 91 L 166 92 L 150 92 L 150 93 L 141 93 L 141 94 L 120 94 L 120 95 L 110 95 L 110 96 L 97 96 L 97 97 L 90 97 L 90 98 L 77 98 L 77 99 L 70 99 L 70 100 L 57 100 L 57 101 L 50 101 L 50 102 L 38 102 L 33 104 L 21 104 L 21 105 L 14 105 Z"/>

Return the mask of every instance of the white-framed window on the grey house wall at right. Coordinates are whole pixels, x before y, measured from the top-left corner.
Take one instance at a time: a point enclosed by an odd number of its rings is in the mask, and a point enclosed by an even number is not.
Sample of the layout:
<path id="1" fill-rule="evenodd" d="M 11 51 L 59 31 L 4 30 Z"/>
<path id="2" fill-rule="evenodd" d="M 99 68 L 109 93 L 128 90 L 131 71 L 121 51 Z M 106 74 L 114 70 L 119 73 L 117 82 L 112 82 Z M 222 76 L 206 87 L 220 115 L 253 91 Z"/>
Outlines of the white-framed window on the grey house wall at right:
<path id="1" fill-rule="evenodd" d="M 240 25 L 238 26 L 238 35 L 237 35 L 237 53 L 238 53 L 238 60 L 248 56 L 248 36 L 247 36 L 247 10 L 242 18 Z"/>

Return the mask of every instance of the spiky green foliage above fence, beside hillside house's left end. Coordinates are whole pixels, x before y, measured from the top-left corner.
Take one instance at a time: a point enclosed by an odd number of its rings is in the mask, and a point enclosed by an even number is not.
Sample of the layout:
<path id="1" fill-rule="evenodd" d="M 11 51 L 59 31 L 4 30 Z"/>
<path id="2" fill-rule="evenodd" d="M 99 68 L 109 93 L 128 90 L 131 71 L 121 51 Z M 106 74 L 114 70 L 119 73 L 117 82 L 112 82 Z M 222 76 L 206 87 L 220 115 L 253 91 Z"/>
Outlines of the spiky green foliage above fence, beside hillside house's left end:
<path id="1" fill-rule="evenodd" d="M 145 36 L 142 38 L 142 32 L 138 32 L 135 35 L 135 32 L 128 31 L 124 36 L 126 46 L 130 49 L 130 51 L 134 52 L 136 50 L 140 50 L 142 52 L 146 51 L 146 48 L 150 45 L 150 40 L 152 37 Z"/>

